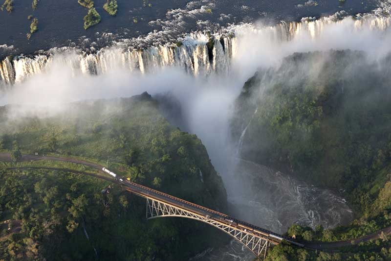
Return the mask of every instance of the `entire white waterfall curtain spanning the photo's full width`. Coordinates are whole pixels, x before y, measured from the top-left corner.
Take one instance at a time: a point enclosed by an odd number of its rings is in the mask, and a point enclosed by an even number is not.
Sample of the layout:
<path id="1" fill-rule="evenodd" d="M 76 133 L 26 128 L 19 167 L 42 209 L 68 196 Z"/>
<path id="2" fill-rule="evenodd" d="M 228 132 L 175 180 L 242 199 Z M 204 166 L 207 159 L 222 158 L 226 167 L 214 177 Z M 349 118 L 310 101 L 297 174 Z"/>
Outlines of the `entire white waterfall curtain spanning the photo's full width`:
<path id="1" fill-rule="evenodd" d="M 327 26 L 340 23 L 347 23 L 351 30 L 384 31 L 390 27 L 391 18 L 374 14 L 351 17 L 341 11 L 318 20 L 303 18 L 300 22 L 282 21 L 274 26 L 233 25 L 226 29 L 230 32 L 229 34 L 227 32 L 213 35 L 202 32 L 190 33 L 180 45 L 168 43 L 135 50 L 118 42 L 113 47 L 104 47 L 96 53 L 89 54 L 69 47 L 68 49 L 49 50 L 46 54 L 28 57 L 7 57 L 0 61 L 0 90 L 22 82 L 31 75 L 44 72 L 50 68 L 54 60 L 70 68 L 74 74 L 102 74 L 116 69 L 153 73 L 159 68 L 172 66 L 182 68 L 195 76 L 209 75 L 212 72 L 228 74 L 231 60 L 238 51 L 237 37 L 240 35 L 241 28 L 250 29 L 253 33 L 261 34 L 265 39 L 280 43 L 292 41 L 303 34 L 316 39 Z M 212 50 L 208 50 L 207 47 L 210 38 L 214 41 Z M 72 59 L 69 59 L 69 53 L 73 53 Z M 209 57 L 210 55 L 212 57 Z"/>

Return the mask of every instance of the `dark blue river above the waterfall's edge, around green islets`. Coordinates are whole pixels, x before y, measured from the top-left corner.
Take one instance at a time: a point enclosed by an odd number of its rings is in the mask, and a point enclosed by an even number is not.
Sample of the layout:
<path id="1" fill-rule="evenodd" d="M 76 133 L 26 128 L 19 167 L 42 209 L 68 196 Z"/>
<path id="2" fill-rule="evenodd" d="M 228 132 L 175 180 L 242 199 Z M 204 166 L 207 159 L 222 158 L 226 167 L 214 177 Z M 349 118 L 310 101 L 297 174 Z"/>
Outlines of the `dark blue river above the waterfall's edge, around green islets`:
<path id="1" fill-rule="evenodd" d="M 77 1 L 40 1 L 36 10 L 32 10 L 31 1 L 15 1 L 11 13 L 0 12 L 0 57 L 54 47 L 99 49 L 120 39 L 127 39 L 125 42 L 131 42 L 134 48 L 156 46 L 196 30 L 216 31 L 229 24 L 260 19 L 271 23 L 300 21 L 302 17 L 327 16 L 341 10 L 356 14 L 370 12 L 377 5 L 377 0 L 118 1 L 118 13 L 112 17 L 103 10 L 105 2 L 94 1 L 102 20 L 85 30 L 87 8 Z M 39 20 L 39 25 L 28 40 L 30 15 Z"/>

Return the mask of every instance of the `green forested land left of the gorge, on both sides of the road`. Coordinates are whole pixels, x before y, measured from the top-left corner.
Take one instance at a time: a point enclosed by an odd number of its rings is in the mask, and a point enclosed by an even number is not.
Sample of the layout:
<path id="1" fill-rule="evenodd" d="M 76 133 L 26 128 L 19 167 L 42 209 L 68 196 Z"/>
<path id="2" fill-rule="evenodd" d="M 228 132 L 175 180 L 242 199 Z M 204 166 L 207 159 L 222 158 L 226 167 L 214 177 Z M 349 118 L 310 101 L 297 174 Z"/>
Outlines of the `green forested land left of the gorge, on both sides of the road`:
<path id="1" fill-rule="evenodd" d="M 24 109 L 0 108 L 0 152 L 15 160 L 0 163 L 0 260 L 184 260 L 221 242 L 196 221 L 146 220 L 144 199 L 80 173 L 88 167 L 17 162 L 22 153 L 81 158 L 225 211 L 205 147 L 170 125 L 150 95 L 77 102 L 44 116 Z"/>

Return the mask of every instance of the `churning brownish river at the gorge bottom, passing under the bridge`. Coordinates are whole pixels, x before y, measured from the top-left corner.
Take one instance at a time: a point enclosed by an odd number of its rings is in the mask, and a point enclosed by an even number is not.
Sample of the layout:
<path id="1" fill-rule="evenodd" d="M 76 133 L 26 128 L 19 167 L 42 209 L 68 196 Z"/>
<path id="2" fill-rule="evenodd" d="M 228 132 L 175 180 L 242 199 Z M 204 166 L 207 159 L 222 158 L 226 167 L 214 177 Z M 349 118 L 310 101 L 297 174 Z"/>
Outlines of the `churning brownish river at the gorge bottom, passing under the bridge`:
<path id="1" fill-rule="evenodd" d="M 348 224 L 353 213 L 345 199 L 254 162 L 233 159 L 235 168 L 223 176 L 230 214 L 259 227 L 285 233 L 293 223 L 314 228 Z M 192 260 L 247 261 L 254 255 L 236 240 L 207 249 Z"/>

